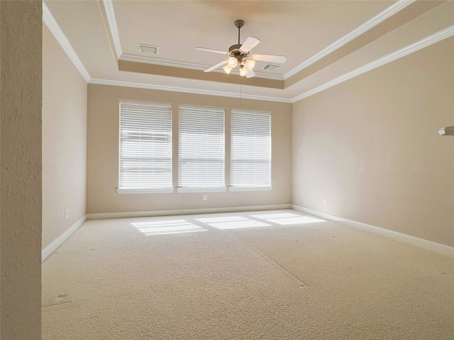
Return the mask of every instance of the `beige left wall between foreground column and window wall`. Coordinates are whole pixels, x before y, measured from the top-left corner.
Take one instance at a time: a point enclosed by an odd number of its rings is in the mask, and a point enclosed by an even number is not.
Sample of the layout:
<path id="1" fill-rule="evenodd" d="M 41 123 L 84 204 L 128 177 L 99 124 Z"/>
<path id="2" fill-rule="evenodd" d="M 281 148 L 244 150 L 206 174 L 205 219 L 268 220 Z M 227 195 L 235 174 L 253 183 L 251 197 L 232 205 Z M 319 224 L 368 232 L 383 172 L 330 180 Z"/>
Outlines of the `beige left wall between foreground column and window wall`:
<path id="1" fill-rule="evenodd" d="M 43 248 L 85 215 L 86 203 L 87 82 L 44 26 Z"/>

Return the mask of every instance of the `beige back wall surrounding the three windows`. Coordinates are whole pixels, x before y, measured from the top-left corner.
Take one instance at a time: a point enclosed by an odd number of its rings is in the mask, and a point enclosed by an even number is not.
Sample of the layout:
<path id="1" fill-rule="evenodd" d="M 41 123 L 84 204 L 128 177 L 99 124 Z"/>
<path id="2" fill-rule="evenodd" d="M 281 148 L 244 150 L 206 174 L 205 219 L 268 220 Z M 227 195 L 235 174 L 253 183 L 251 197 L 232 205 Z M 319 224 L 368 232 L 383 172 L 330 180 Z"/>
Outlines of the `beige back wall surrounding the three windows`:
<path id="1" fill-rule="evenodd" d="M 174 107 L 174 159 L 177 156 L 178 104 L 272 112 L 272 191 L 207 193 L 155 193 L 118 195 L 118 101 L 131 99 L 172 103 Z M 226 129 L 228 130 L 228 129 Z M 87 213 L 220 208 L 291 203 L 292 105 L 237 98 L 181 94 L 118 86 L 88 86 Z M 226 154 L 229 152 L 226 135 Z M 228 157 L 226 159 L 228 180 Z M 177 165 L 173 167 L 177 186 Z"/>

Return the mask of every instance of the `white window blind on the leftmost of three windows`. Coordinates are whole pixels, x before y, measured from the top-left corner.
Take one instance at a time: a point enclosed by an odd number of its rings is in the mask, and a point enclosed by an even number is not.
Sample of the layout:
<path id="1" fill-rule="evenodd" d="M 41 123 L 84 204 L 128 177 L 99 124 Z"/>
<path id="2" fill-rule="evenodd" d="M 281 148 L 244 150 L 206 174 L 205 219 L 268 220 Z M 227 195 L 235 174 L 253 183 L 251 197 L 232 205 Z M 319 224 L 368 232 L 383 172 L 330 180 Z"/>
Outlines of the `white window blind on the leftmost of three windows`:
<path id="1" fill-rule="evenodd" d="M 172 104 L 120 101 L 118 193 L 172 191 Z"/>

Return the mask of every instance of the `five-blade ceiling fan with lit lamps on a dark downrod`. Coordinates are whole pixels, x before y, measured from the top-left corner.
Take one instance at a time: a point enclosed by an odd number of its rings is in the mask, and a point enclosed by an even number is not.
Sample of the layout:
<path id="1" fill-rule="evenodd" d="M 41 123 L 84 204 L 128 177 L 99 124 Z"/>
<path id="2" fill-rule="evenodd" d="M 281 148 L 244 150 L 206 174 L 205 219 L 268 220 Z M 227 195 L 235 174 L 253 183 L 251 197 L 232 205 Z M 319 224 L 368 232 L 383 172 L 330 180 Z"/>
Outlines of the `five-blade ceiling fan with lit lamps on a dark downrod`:
<path id="1" fill-rule="evenodd" d="M 278 64 L 284 64 L 287 61 L 287 58 L 283 55 L 250 55 L 249 52 L 252 50 L 260 40 L 254 37 L 248 37 L 245 40 L 243 45 L 240 44 L 240 29 L 244 26 L 243 20 L 235 21 L 235 27 L 238 28 L 238 44 L 231 45 L 228 48 L 228 52 L 220 51 L 220 50 L 211 50 L 210 48 L 205 47 L 196 47 L 198 51 L 204 52 L 214 52 L 219 53 L 221 55 L 228 55 L 228 59 L 220 62 L 208 69 L 205 69 L 204 72 L 211 72 L 218 67 L 223 66 L 223 70 L 226 74 L 230 74 L 231 70 L 236 67 L 236 65 L 240 65 L 240 76 L 246 78 L 252 78 L 255 76 L 255 72 L 253 68 L 255 66 L 255 61 L 258 60 L 260 62 L 277 62 Z"/>

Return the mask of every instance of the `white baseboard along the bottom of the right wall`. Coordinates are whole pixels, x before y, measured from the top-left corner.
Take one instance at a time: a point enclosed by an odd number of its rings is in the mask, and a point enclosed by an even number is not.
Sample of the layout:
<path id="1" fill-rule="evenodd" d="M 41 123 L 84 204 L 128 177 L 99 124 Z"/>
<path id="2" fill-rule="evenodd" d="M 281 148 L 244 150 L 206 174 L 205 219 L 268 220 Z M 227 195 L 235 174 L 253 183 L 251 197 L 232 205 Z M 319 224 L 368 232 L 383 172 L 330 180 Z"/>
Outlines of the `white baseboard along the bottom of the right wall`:
<path id="1" fill-rule="evenodd" d="M 395 239 L 396 241 L 411 244 L 412 246 L 419 246 L 420 248 L 427 249 L 430 251 L 435 251 L 438 254 L 443 254 L 446 256 L 454 257 L 454 247 L 446 246 L 445 244 L 439 244 L 436 242 L 428 241 L 427 239 L 420 239 L 419 237 L 414 237 L 407 234 L 402 234 L 401 232 L 394 232 L 389 229 L 384 229 L 380 227 L 375 227 L 374 225 L 367 225 L 362 222 L 356 222 L 353 220 L 348 220 L 343 217 L 338 217 L 334 215 L 326 214 L 325 212 L 319 212 L 309 208 L 300 207 L 299 205 L 292 204 L 292 209 L 304 212 L 309 215 L 314 215 L 317 217 L 325 218 L 326 220 L 331 220 L 334 222 L 340 222 L 343 225 L 348 225 L 355 229 L 360 229 L 365 232 L 371 232 L 372 234 L 377 234 L 383 237 L 388 237 L 390 239 Z"/>

